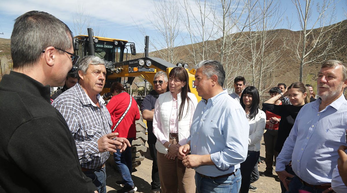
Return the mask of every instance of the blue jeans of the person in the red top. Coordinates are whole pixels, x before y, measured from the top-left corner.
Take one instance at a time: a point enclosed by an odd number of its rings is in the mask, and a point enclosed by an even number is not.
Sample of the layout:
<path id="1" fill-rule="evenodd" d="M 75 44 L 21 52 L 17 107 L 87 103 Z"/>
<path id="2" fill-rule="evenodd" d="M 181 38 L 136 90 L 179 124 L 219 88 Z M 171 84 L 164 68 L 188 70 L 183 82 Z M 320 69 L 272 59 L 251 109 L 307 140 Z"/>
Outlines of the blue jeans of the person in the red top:
<path id="1" fill-rule="evenodd" d="M 133 138 L 127 139 L 129 140 L 130 144 L 132 144 Z M 127 147 L 123 152 L 117 150 L 116 153 L 113 153 L 113 158 L 115 159 L 117 168 L 124 180 L 125 186 L 134 186 L 133 179 L 131 178 L 131 174 L 133 171 L 131 149 L 131 147 Z"/>

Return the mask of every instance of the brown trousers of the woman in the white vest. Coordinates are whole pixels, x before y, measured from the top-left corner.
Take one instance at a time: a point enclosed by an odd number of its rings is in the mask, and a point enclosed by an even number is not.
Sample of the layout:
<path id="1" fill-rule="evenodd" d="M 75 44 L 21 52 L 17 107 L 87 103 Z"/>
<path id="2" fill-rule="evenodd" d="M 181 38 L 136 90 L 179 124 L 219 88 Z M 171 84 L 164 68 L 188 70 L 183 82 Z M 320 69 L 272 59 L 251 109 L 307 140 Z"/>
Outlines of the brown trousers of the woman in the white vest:
<path id="1" fill-rule="evenodd" d="M 178 138 L 169 143 L 177 144 Z M 186 168 L 177 157 L 169 160 L 165 154 L 157 152 L 159 178 L 162 193 L 195 193 L 195 170 Z"/>

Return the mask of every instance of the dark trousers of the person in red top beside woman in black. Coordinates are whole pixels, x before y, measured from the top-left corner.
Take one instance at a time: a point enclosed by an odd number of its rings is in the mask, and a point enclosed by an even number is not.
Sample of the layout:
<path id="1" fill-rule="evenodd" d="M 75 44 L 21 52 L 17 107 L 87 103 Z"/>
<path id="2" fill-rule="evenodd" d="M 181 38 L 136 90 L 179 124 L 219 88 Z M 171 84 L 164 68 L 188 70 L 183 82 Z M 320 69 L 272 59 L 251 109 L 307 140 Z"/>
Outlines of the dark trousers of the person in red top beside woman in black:
<path id="1" fill-rule="evenodd" d="M 278 130 L 266 130 L 264 133 L 265 143 L 265 172 L 272 173 L 273 159 L 276 160 L 278 153 L 274 150 L 278 137 Z"/>

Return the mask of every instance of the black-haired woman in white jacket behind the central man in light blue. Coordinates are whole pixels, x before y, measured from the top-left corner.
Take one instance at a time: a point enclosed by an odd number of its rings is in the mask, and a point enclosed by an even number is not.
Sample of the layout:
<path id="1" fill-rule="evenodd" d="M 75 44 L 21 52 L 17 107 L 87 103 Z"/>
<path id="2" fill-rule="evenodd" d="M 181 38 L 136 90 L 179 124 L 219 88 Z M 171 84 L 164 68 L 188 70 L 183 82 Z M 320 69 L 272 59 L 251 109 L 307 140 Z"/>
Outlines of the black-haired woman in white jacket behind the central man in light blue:
<path id="1" fill-rule="evenodd" d="M 248 192 L 251 185 L 251 173 L 260 156 L 260 140 L 264 133 L 266 115 L 259 109 L 259 102 L 257 89 L 254 86 L 247 86 L 240 97 L 240 103 L 246 111 L 249 124 L 247 158 L 240 166 L 242 175 L 240 193 Z"/>

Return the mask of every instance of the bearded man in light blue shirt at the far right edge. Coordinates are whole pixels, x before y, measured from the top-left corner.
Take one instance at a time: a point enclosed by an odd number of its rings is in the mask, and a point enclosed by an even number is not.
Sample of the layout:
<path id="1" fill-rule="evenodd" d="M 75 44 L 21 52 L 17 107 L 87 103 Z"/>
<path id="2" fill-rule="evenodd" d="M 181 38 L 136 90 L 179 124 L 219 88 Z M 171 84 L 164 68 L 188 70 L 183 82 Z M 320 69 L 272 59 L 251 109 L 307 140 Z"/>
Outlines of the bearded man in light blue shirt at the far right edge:
<path id="1" fill-rule="evenodd" d="M 289 192 L 323 192 L 330 188 L 337 149 L 346 143 L 347 101 L 343 95 L 347 87 L 346 64 L 325 61 L 318 73 L 317 87 L 320 98 L 300 110 L 277 157 L 276 172 L 287 190 L 290 178 L 294 177 L 285 171 L 290 161 L 296 174 Z"/>

